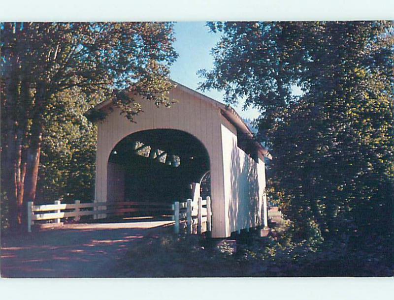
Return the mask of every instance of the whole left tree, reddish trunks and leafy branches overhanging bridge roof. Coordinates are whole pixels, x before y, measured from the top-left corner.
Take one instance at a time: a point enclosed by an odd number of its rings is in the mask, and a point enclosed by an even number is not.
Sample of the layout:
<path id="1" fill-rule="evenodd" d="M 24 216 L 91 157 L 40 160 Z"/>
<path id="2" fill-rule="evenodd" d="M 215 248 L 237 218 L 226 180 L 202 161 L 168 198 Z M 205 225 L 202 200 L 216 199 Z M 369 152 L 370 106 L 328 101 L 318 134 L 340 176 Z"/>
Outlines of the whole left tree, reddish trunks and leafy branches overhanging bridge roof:
<path id="1" fill-rule="evenodd" d="M 65 108 L 57 95 L 111 97 L 131 121 L 141 110 L 133 95 L 170 105 L 173 40 L 171 23 L 1 25 L 2 177 L 13 227 L 35 199 L 45 120 Z"/>

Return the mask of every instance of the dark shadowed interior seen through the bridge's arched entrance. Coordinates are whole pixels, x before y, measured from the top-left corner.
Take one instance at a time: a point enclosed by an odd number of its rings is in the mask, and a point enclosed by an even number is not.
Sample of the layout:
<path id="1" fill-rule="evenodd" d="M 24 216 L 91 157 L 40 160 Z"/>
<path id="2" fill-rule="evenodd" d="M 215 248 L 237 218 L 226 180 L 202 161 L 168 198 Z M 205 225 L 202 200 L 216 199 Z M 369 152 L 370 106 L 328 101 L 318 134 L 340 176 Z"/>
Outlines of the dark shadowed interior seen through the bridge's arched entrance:
<path id="1" fill-rule="evenodd" d="M 201 142 L 173 129 L 127 136 L 112 150 L 109 162 L 125 171 L 125 199 L 117 201 L 184 201 L 192 196 L 191 183 L 209 171 L 209 156 Z"/>

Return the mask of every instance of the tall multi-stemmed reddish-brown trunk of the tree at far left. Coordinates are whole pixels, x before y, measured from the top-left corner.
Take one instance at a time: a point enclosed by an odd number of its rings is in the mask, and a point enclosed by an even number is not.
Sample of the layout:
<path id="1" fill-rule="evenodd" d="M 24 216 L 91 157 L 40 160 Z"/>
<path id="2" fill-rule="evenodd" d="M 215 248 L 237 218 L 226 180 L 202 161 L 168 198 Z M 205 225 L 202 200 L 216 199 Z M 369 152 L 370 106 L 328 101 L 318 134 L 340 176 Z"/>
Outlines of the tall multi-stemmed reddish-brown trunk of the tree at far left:
<path id="1" fill-rule="evenodd" d="M 16 32 L 19 31 L 11 23 L 5 24 L 4 30 L 8 30 L 8 34 L 3 36 L 2 42 L 14 46 L 6 47 L 2 53 L 7 65 L 3 74 L 5 97 L 1 120 L 5 124 L 5 131 L 2 131 L 5 144 L 2 146 L 5 156 L 2 158 L 2 182 L 8 200 L 10 227 L 16 230 L 23 229 L 20 225 L 27 220 L 25 204 L 35 199 L 43 131 L 42 110 L 48 85 L 40 82 L 32 98 L 32 70 L 29 65 L 22 67 L 21 58 L 13 53 L 18 51 Z M 29 119 L 33 120 L 31 126 Z"/>

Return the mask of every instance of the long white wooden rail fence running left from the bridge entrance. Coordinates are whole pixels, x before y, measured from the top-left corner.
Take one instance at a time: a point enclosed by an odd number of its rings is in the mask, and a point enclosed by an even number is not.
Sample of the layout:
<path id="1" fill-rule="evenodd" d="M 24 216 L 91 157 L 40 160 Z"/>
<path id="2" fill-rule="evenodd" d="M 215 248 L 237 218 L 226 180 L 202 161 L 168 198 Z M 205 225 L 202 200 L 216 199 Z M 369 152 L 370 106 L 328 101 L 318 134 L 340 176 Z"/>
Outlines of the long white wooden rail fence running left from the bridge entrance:
<path id="1" fill-rule="evenodd" d="M 173 215 L 171 204 L 155 202 L 94 202 L 81 203 L 75 200 L 74 204 L 61 203 L 60 200 L 54 204 L 33 205 L 28 203 L 28 231 L 32 232 L 34 221 L 55 220 L 60 223 L 63 218 L 74 218 L 79 221 L 81 216 L 92 215 L 96 218 L 106 215 L 122 215 L 127 212 L 140 212 L 142 214 L 151 214 L 156 212 L 168 213 Z"/>

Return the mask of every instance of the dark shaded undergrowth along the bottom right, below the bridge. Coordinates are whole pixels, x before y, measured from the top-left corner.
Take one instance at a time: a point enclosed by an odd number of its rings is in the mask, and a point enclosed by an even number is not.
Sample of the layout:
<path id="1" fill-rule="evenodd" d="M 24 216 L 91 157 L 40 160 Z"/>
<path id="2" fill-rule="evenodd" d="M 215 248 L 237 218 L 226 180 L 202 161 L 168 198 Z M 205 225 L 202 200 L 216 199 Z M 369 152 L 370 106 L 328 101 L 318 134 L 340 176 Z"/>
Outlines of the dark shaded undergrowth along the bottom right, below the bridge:
<path id="1" fill-rule="evenodd" d="M 235 246 L 236 244 L 236 246 Z M 236 250 L 235 250 L 236 249 Z M 297 243 L 286 233 L 218 241 L 197 236 L 145 238 L 122 260 L 120 277 L 393 276 L 390 243 L 371 241 L 362 250 L 340 241 Z"/>

